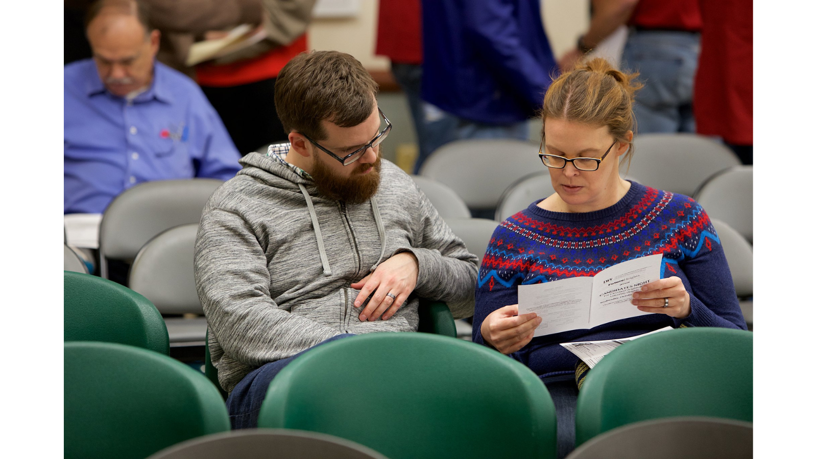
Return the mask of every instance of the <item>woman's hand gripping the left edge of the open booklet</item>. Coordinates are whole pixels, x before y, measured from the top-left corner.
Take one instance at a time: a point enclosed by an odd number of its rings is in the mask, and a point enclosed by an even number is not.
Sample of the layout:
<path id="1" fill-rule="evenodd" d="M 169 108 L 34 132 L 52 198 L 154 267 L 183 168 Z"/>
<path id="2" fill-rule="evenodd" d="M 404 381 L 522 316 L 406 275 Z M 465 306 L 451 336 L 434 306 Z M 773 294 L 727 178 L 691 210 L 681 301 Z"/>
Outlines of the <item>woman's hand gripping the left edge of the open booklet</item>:
<path id="1" fill-rule="evenodd" d="M 507 305 L 488 314 L 482 321 L 482 339 L 502 354 L 511 354 L 534 339 L 542 318 L 535 312 L 516 315 L 519 305 Z"/>

